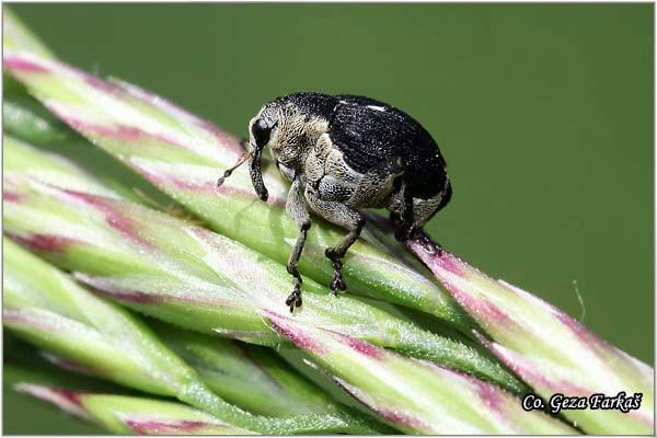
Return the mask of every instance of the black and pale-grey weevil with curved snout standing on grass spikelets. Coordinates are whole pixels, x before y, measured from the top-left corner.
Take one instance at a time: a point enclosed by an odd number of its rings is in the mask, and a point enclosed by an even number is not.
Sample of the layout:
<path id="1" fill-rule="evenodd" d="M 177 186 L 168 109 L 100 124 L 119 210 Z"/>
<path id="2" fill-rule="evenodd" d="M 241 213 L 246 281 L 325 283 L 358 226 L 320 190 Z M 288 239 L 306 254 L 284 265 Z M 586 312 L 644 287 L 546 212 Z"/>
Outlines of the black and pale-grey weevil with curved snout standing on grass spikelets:
<path id="1" fill-rule="evenodd" d="M 333 263 L 330 287 L 334 293 L 347 288 L 342 260 L 360 235 L 365 208 L 388 209 L 397 240 L 419 240 L 427 251 L 437 251 L 423 227 L 449 203 L 451 183 L 438 145 L 406 113 L 364 96 L 293 93 L 257 112 L 249 122 L 245 146 L 247 151 L 218 185 L 249 162 L 253 187 L 266 201 L 261 169 L 265 147 L 291 182 L 286 210 L 299 227 L 299 235 L 287 264 L 295 278 L 286 300 L 290 312 L 302 302 L 298 267 L 311 212 L 348 230 L 325 251 Z"/>

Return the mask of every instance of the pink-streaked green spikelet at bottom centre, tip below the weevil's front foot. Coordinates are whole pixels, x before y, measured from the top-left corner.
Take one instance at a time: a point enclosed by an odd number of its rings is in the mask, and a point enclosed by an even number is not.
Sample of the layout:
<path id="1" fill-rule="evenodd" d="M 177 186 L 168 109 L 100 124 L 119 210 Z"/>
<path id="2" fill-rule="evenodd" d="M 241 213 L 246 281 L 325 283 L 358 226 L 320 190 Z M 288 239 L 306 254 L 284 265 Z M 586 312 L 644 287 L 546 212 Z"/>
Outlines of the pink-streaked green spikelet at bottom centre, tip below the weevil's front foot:
<path id="1" fill-rule="evenodd" d="M 575 434 L 472 376 L 408 359 L 367 342 L 265 312 L 311 364 L 391 426 L 408 434 Z"/>

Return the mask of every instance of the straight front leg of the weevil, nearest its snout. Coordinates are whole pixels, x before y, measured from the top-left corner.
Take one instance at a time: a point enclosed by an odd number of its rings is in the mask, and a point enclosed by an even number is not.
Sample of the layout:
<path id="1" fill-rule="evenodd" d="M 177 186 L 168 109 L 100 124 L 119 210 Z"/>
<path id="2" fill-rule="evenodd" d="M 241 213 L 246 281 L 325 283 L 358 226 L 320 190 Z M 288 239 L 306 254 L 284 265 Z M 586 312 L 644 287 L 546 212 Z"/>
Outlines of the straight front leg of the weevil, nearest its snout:
<path id="1" fill-rule="evenodd" d="M 285 300 L 285 303 L 290 307 L 290 312 L 293 312 L 295 308 L 301 307 L 302 303 L 301 284 L 303 280 L 299 274 L 299 258 L 301 257 L 301 252 L 303 251 L 303 245 L 306 244 L 306 237 L 311 224 L 308 208 L 301 198 L 301 182 L 299 178 L 295 178 L 292 182 L 285 208 L 288 215 L 295 219 L 297 226 L 299 227 L 299 235 L 297 237 L 297 242 L 295 243 L 295 247 L 290 253 L 287 264 L 288 273 L 295 277 L 295 289 L 287 300 Z"/>

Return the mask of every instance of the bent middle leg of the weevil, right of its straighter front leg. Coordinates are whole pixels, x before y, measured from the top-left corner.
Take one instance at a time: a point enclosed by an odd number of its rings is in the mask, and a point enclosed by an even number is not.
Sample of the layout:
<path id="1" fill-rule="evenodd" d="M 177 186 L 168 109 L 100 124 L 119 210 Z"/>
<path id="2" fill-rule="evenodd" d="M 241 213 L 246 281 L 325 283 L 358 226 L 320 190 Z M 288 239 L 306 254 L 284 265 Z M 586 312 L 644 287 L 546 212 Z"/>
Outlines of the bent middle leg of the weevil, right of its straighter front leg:
<path id="1" fill-rule="evenodd" d="M 338 290 L 344 291 L 347 289 L 347 284 L 342 275 L 342 258 L 347 253 L 349 246 L 358 240 L 360 231 L 365 226 L 365 218 L 358 211 L 342 203 L 320 199 L 312 187 L 306 188 L 306 200 L 310 209 L 316 215 L 349 230 L 349 233 L 335 246 L 328 247 L 325 251 L 326 257 L 333 262 L 334 274 L 331 281 L 331 290 L 334 293 L 337 293 Z"/>

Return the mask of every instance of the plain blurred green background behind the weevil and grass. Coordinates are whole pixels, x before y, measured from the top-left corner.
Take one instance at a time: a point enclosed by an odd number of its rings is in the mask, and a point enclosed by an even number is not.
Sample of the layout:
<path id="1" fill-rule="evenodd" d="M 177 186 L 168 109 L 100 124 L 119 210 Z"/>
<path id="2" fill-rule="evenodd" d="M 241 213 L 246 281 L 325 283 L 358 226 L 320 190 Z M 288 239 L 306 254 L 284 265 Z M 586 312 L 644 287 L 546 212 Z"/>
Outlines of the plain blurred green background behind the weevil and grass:
<path id="1" fill-rule="evenodd" d="M 364 94 L 433 132 L 429 231 L 654 364 L 652 4 L 13 4 L 61 59 L 237 135 L 292 91 Z M 4 431 L 93 433 L 4 390 Z"/>

